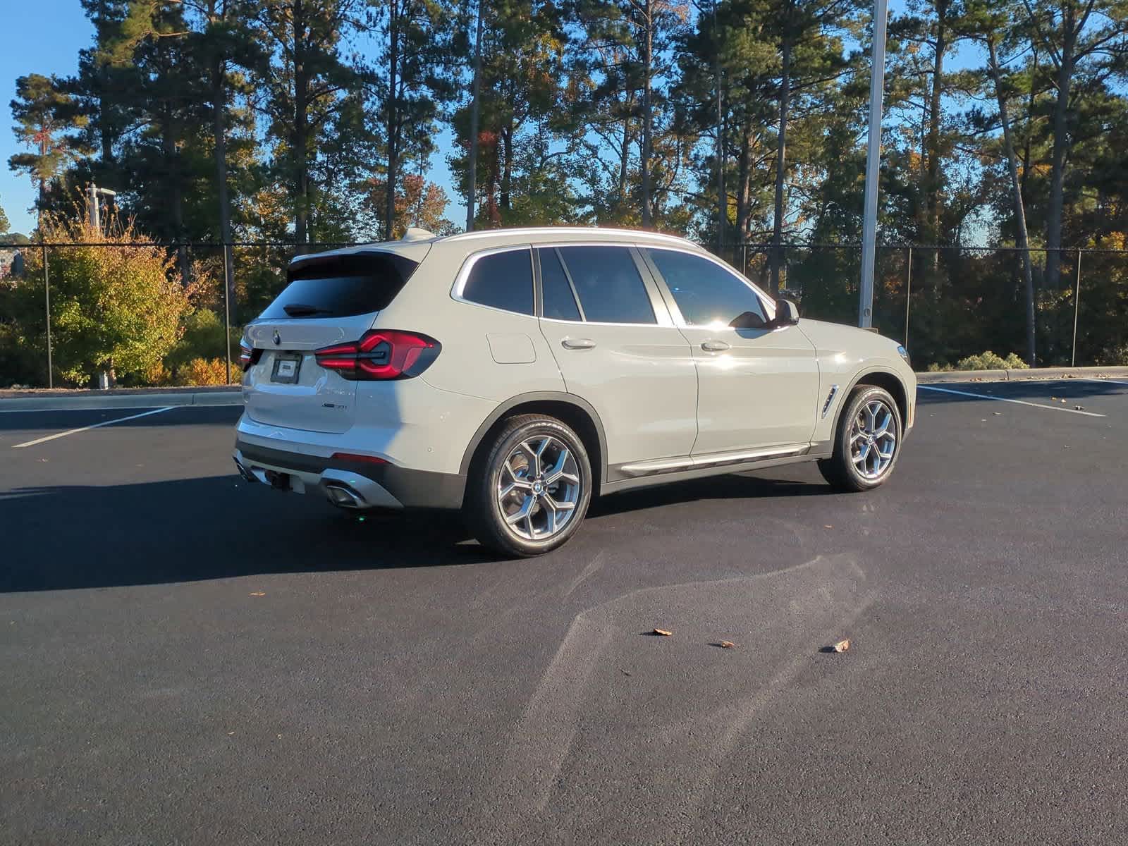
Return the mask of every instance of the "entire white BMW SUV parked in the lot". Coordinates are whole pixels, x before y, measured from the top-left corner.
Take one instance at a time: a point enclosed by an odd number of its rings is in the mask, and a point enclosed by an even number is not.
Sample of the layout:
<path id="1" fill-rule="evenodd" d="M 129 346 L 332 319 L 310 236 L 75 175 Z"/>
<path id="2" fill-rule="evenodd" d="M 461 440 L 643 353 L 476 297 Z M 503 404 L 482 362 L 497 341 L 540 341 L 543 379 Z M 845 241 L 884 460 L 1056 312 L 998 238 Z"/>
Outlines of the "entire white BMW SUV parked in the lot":
<path id="1" fill-rule="evenodd" d="M 905 350 L 800 320 L 682 238 L 509 229 L 294 258 L 247 326 L 235 461 L 346 509 L 461 509 L 537 555 L 596 494 L 796 461 L 865 491 L 913 428 Z"/>

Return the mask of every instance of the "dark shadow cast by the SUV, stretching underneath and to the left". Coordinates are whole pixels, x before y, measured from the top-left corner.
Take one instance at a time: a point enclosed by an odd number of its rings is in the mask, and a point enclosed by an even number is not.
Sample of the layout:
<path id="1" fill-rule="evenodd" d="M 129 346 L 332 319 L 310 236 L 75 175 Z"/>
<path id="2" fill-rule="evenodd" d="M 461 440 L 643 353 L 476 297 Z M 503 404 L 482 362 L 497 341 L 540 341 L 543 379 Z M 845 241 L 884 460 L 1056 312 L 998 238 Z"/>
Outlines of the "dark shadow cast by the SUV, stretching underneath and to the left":
<path id="1" fill-rule="evenodd" d="M 597 501 L 600 517 L 677 502 L 825 493 L 825 485 L 723 476 Z M 497 561 L 457 513 L 338 511 L 238 476 L 0 494 L 0 593 L 230 579 L 264 573 Z"/>

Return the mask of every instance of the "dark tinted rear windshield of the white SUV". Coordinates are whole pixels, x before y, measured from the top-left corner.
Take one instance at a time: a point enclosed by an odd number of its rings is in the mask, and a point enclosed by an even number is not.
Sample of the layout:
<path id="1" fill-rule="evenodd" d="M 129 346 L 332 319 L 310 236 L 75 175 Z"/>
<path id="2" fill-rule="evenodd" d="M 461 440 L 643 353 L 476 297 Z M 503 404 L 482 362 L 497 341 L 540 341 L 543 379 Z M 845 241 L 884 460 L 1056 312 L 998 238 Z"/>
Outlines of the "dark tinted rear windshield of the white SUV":
<path id="1" fill-rule="evenodd" d="M 291 265 L 285 287 L 265 319 L 350 317 L 386 309 L 418 262 L 395 253 L 316 256 Z"/>

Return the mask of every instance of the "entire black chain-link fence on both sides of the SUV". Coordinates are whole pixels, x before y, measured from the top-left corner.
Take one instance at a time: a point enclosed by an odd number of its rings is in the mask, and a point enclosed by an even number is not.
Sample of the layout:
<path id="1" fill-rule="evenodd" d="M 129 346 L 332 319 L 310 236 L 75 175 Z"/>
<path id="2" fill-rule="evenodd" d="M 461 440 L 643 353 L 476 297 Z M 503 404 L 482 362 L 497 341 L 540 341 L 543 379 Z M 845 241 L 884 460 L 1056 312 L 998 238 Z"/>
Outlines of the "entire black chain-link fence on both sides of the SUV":
<path id="1" fill-rule="evenodd" d="M 353 245 L 301 252 L 342 246 Z M 267 241 L 0 247 L 0 388 L 238 381 L 243 326 L 285 287 L 297 252 Z M 856 325 L 858 245 L 747 244 L 721 255 L 765 290 L 775 271 L 803 316 Z M 1128 364 L 1128 252 L 1060 250 L 1054 285 L 1047 252 L 1030 255 L 1037 363 Z M 135 273 L 144 263 L 159 267 Z M 153 308 L 165 300 L 175 315 Z M 922 370 L 988 350 L 1025 358 L 1023 255 L 1013 248 L 880 246 L 873 309 L 874 327 Z"/>

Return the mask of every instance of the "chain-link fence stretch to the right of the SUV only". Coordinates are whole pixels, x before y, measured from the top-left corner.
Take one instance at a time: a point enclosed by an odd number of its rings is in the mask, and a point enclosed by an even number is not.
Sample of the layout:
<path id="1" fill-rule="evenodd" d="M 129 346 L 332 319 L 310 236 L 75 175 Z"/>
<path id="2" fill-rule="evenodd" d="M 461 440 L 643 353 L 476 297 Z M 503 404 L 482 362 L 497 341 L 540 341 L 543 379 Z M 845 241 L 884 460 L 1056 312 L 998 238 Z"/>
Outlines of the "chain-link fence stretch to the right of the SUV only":
<path id="1" fill-rule="evenodd" d="M 1029 250 L 1037 363 L 1128 364 L 1128 252 Z M 737 245 L 723 257 L 765 290 L 773 263 L 800 314 L 857 324 L 860 245 Z M 1047 262 L 1059 272 L 1049 282 Z M 951 367 L 992 351 L 1026 358 L 1022 250 L 1010 247 L 879 246 L 873 325 L 901 341 L 918 369 Z"/>

